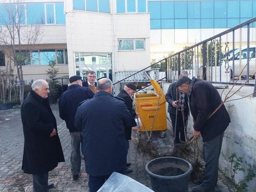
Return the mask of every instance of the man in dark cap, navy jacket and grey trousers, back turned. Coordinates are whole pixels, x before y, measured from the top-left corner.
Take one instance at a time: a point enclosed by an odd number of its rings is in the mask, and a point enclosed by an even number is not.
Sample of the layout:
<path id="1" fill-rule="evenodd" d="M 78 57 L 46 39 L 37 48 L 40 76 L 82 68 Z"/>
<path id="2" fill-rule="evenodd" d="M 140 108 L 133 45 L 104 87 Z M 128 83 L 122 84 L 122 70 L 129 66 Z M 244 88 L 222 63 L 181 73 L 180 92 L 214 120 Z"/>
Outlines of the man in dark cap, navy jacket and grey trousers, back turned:
<path id="1" fill-rule="evenodd" d="M 82 129 L 76 129 L 74 119 L 76 110 L 80 102 L 93 98 L 94 93 L 88 87 L 82 87 L 82 77 L 72 76 L 69 78 L 70 86 L 59 99 L 60 118 L 65 120 L 71 138 L 71 172 L 73 180 L 80 176 L 81 154 L 80 144 L 82 139 Z"/>

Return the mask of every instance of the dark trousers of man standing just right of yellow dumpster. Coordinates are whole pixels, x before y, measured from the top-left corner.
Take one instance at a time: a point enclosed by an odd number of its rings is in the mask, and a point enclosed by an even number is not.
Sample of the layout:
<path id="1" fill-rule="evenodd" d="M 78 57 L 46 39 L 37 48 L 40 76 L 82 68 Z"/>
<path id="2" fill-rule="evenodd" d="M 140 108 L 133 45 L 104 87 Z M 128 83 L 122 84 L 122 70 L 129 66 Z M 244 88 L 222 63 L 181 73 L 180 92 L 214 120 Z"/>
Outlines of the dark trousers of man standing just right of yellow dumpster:
<path id="1" fill-rule="evenodd" d="M 188 121 L 188 114 L 184 112 L 184 121 L 183 121 L 182 112 L 178 111 L 176 132 L 175 132 L 176 114 L 170 113 L 170 118 L 172 120 L 172 132 L 174 136 L 174 144 L 178 144 L 182 141 L 185 142 L 186 132 L 184 131 L 184 125 L 186 125 Z"/>

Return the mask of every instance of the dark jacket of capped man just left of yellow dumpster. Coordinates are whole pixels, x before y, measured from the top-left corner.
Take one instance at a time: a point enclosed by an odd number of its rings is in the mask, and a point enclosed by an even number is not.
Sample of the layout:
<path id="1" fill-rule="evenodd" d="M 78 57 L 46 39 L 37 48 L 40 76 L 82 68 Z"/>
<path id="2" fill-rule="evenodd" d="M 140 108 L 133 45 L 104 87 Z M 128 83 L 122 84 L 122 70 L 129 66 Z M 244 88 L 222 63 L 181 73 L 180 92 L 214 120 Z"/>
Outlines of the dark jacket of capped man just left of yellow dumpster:
<path id="1" fill-rule="evenodd" d="M 134 112 L 134 110 L 132 109 L 132 98 L 127 94 L 127 92 L 125 90 L 122 90 L 117 96 L 124 100 L 125 105 L 128 108 L 128 110 L 132 116 L 132 126 L 124 128 L 126 140 L 131 140 L 132 139 L 131 138 L 132 127 L 137 125 L 136 121 L 134 119 L 136 116 L 136 112 Z"/>

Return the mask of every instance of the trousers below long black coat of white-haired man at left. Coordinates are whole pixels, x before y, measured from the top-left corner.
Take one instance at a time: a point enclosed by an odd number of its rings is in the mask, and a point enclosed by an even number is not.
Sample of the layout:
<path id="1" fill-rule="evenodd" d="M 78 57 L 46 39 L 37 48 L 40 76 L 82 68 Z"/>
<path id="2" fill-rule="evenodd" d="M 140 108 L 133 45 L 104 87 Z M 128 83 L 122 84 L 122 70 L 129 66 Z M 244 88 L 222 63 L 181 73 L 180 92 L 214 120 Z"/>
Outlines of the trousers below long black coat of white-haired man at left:
<path id="1" fill-rule="evenodd" d="M 48 192 L 48 173 L 33 174 L 33 192 Z"/>

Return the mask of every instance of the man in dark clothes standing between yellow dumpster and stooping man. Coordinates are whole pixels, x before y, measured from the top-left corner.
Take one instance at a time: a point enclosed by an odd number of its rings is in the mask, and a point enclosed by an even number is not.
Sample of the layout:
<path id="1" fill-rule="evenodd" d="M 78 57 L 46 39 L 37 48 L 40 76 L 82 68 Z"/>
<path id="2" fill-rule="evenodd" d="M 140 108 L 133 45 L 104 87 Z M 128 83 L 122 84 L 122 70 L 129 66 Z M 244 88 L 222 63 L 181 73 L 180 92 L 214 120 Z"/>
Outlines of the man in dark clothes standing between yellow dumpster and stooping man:
<path id="1" fill-rule="evenodd" d="M 188 76 L 187 71 L 180 72 L 180 78 L 183 76 Z M 180 94 L 180 91 L 176 87 L 176 82 L 170 84 L 167 93 L 165 94 L 165 99 L 168 102 L 168 113 L 172 120 L 172 132 L 174 135 L 174 144 L 179 144 L 180 142 L 186 142 L 186 125 L 188 121 L 188 95 Z M 178 108 L 177 108 L 178 107 Z M 176 123 L 176 111 L 177 113 L 177 123 Z"/>

